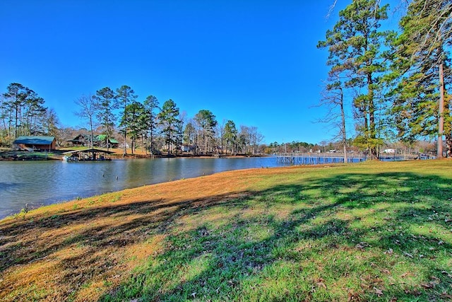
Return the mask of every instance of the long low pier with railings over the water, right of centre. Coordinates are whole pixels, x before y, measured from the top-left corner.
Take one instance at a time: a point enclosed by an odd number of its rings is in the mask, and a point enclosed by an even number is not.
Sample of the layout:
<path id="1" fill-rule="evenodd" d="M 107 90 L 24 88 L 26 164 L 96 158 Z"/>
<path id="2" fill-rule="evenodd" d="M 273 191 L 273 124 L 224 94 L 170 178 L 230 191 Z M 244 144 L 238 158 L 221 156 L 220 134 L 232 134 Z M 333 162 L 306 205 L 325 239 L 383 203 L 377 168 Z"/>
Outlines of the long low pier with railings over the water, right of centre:
<path id="1" fill-rule="evenodd" d="M 342 153 L 276 153 L 278 163 L 291 165 L 321 165 L 324 163 L 343 163 Z M 347 155 L 347 163 L 359 163 L 366 161 L 367 157 L 362 153 L 350 153 Z"/>

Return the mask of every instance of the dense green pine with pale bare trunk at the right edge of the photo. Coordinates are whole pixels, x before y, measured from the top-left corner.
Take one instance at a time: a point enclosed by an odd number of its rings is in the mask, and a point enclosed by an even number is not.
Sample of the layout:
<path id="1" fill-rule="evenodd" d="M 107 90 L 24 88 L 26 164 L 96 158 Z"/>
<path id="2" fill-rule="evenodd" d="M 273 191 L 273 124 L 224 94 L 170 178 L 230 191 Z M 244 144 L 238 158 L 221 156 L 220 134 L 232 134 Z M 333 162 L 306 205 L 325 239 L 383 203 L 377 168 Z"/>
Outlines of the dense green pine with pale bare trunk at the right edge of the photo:
<path id="1" fill-rule="evenodd" d="M 393 40 L 393 102 L 391 116 L 398 138 L 414 141 L 418 137 L 446 134 L 452 145 L 452 117 L 447 91 L 452 78 L 448 47 L 452 37 L 452 4 L 450 1 L 424 0 L 410 2 L 400 21 L 400 35 Z M 444 74 L 441 74 L 444 70 Z M 443 83 L 441 93 L 441 83 Z M 440 105 L 444 103 L 444 105 Z M 444 113 L 441 113 L 444 111 Z M 444 119 L 444 129 L 439 129 Z M 452 155 L 450 150 L 448 153 Z"/>

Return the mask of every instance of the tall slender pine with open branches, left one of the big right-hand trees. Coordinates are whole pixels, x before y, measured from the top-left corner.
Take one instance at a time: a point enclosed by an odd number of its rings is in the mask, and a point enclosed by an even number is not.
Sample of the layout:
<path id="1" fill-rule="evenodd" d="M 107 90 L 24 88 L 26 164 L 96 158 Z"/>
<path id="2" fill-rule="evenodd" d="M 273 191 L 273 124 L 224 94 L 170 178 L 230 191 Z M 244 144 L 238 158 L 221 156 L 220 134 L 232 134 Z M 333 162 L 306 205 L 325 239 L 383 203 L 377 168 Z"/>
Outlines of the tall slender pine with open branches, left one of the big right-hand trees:
<path id="1" fill-rule="evenodd" d="M 330 76 L 343 79 L 341 86 L 355 93 L 353 105 L 358 121 L 357 131 L 372 158 L 376 158 L 378 120 L 381 119 L 379 98 L 381 76 L 387 70 L 383 45 L 389 31 L 379 30 L 387 17 L 388 5 L 379 6 L 375 0 L 353 0 L 339 12 L 339 21 L 326 32 L 319 48 L 328 48 Z"/>

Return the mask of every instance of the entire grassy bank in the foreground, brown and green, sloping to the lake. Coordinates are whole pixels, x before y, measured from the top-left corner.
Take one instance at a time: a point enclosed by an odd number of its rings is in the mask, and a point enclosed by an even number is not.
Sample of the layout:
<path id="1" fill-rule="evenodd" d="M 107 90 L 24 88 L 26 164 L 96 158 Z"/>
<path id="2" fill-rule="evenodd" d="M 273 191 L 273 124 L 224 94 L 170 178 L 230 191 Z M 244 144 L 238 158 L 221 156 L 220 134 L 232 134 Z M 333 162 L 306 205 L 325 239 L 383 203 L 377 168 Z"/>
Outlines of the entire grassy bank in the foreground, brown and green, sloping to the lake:
<path id="1" fill-rule="evenodd" d="M 0 221 L 1 301 L 451 301 L 452 161 L 242 170 Z"/>

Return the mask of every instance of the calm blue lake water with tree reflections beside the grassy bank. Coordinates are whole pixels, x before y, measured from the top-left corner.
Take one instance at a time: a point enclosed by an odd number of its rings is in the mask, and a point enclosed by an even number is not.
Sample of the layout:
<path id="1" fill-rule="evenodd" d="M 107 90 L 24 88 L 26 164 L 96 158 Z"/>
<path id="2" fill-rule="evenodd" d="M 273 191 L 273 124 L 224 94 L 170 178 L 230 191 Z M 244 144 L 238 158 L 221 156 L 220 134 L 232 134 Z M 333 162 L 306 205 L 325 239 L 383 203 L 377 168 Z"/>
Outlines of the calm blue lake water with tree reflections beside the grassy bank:
<path id="1" fill-rule="evenodd" d="M 64 202 L 131 187 L 194 178 L 226 170 L 276 167 L 264 158 L 156 158 L 78 162 L 0 161 L 0 219 L 29 204 Z"/>

